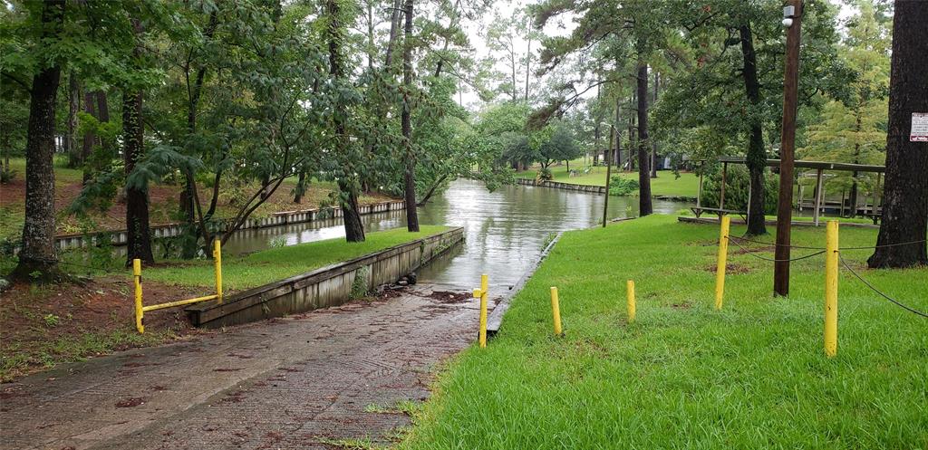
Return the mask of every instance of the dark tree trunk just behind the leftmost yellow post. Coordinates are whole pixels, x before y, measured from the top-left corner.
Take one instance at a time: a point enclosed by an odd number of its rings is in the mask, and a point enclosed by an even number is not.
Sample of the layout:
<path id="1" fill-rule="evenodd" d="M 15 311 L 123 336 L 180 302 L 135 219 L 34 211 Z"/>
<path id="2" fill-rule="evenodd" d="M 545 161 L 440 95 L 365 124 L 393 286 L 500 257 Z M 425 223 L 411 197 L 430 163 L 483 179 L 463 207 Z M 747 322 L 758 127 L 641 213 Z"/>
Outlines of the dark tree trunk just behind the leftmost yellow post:
<path id="1" fill-rule="evenodd" d="M 132 19 L 136 39 L 140 39 L 142 25 L 137 19 Z M 142 53 L 140 45 L 135 46 L 135 58 Z M 154 264 L 155 257 L 151 253 L 151 229 L 148 227 L 148 181 L 143 185 L 134 186 L 128 183 L 129 175 L 135 170 L 137 163 L 145 155 L 145 125 L 142 122 L 142 90 L 122 91 L 122 156 L 125 161 L 125 227 L 126 227 L 126 258 L 125 266 L 132 265 L 132 260 L 140 259 L 143 264 Z M 144 178 L 143 178 L 144 180 Z"/>

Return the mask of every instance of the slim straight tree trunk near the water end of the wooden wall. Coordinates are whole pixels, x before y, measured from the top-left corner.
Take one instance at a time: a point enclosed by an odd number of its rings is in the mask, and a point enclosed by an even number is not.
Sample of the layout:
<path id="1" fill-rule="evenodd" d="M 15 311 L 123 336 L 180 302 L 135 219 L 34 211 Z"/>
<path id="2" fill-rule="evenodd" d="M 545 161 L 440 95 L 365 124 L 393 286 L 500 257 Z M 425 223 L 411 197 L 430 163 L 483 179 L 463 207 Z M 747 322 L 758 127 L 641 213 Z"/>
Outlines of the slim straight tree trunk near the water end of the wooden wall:
<path id="1" fill-rule="evenodd" d="M 406 229 L 419 232 L 419 212 L 416 209 L 416 155 L 412 147 L 412 105 L 409 91 L 412 89 L 412 9 L 413 0 L 406 0 L 406 24 L 403 30 L 403 113 L 400 118 L 403 144 L 406 147 L 406 172 L 404 174 L 404 197 L 406 199 Z"/>

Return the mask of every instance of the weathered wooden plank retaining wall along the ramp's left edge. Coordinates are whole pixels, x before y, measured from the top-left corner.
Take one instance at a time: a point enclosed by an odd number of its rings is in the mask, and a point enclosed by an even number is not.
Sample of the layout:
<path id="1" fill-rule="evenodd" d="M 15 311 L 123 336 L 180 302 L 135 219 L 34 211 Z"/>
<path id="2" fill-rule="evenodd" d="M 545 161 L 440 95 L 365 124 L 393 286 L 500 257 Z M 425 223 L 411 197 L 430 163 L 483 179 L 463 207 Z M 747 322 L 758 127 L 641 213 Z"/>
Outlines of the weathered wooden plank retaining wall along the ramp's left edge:
<path id="1" fill-rule="evenodd" d="M 464 228 L 453 228 L 351 261 L 248 289 L 227 297 L 222 304 L 195 304 L 187 307 L 187 315 L 197 327 L 219 328 L 338 306 L 351 300 L 353 288 L 355 292 L 360 289 L 367 292 L 393 283 L 462 240 Z M 355 286 L 358 277 L 361 278 Z"/>

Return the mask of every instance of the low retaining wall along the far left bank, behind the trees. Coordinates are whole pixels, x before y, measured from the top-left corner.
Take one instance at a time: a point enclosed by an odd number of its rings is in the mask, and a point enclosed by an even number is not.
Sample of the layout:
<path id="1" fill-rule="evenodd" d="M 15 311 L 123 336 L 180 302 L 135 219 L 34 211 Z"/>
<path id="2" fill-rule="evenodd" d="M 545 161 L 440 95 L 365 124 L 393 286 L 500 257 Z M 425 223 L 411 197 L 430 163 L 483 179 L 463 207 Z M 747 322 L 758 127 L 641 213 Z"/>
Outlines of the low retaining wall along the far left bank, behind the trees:
<path id="1" fill-rule="evenodd" d="M 383 201 L 370 205 L 363 205 L 358 208 L 361 214 L 371 214 L 374 212 L 388 212 L 406 209 L 406 201 Z M 321 211 L 318 209 L 275 212 L 268 217 L 260 219 L 249 219 L 241 226 L 241 229 L 264 228 L 267 226 L 278 226 L 288 224 L 300 224 L 303 222 L 312 222 L 320 218 Z M 341 208 L 332 208 L 326 213 L 325 218 L 342 217 Z M 153 225 L 151 226 L 151 238 L 172 238 L 180 236 L 183 233 L 184 226 L 181 224 Z M 128 235 L 126 230 L 115 230 L 101 233 L 99 235 L 60 235 L 55 237 L 55 245 L 58 250 L 77 249 L 87 247 L 97 243 L 97 240 L 109 235 L 112 239 L 112 245 L 126 245 Z"/>

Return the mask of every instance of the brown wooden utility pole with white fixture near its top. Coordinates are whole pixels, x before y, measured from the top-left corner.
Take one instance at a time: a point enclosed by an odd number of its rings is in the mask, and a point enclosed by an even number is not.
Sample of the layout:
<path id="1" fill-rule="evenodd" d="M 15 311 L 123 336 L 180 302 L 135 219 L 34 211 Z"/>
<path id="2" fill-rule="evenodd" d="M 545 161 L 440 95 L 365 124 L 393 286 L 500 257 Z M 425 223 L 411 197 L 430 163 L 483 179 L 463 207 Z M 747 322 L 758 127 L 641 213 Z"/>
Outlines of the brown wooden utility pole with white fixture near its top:
<path id="1" fill-rule="evenodd" d="M 773 264 L 773 292 L 790 294 L 790 226 L 793 223 L 793 150 L 796 145 L 796 114 L 799 93 L 799 37 L 802 0 L 788 0 L 783 8 L 786 27 L 786 67 L 783 83 L 783 126 L 780 133 L 780 199 L 777 203 L 777 249 Z"/>

